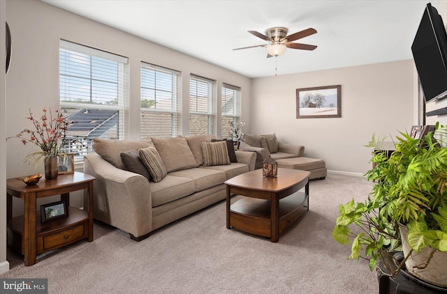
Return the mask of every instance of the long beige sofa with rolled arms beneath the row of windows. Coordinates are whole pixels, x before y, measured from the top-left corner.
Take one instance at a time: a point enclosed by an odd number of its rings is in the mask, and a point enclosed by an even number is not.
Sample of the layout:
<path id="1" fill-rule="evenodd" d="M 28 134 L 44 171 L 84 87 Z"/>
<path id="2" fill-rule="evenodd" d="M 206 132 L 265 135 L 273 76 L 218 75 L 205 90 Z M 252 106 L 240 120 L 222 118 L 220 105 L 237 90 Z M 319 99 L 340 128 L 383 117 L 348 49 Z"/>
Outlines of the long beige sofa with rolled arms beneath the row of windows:
<path id="1" fill-rule="evenodd" d="M 85 173 L 96 178 L 94 218 L 140 241 L 161 226 L 225 199 L 223 182 L 254 170 L 256 154 L 236 151 L 237 162 L 204 167 L 202 142 L 212 139 L 215 139 L 212 135 L 146 140 L 94 139 L 96 153 L 84 159 Z M 154 183 L 150 175 L 125 170 L 129 169 L 129 162 L 125 162 L 123 156 L 138 154 L 136 150 L 154 149 L 149 146 L 155 146 L 167 172 L 158 183 Z M 207 164 L 210 165 L 209 158 Z"/>

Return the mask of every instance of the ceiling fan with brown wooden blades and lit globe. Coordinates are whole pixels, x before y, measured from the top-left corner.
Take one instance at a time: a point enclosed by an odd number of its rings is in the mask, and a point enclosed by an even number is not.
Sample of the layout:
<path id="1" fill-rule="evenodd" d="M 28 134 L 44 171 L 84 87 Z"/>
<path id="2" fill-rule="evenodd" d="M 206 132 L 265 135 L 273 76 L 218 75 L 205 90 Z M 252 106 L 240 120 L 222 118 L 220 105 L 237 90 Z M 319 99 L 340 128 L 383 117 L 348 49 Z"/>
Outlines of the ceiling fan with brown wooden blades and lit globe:
<path id="1" fill-rule="evenodd" d="M 291 49 L 301 49 L 301 50 L 314 50 L 315 45 L 307 45 L 301 43 L 293 43 L 292 41 L 311 36 L 316 33 L 316 29 L 305 29 L 303 31 L 298 31 L 287 36 L 288 29 L 282 26 L 267 29 L 265 35 L 257 31 L 249 31 L 252 35 L 261 38 L 263 40 L 269 41 L 269 44 L 256 45 L 242 48 L 235 48 L 233 50 L 248 49 L 254 47 L 266 47 L 268 55 L 267 57 L 278 56 L 283 54 L 287 48 Z"/>

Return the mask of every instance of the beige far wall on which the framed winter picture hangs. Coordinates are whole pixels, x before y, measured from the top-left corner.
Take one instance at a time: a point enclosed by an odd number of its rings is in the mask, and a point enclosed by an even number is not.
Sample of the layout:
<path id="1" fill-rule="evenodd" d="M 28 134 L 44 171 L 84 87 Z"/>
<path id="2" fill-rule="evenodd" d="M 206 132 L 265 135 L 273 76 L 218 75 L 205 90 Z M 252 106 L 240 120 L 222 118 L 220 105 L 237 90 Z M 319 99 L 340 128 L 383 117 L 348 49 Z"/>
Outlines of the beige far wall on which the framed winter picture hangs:
<path id="1" fill-rule="evenodd" d="M 281 58 L 279 56 L 278 58 Z M 342 118 L 296 118 L 295 90 L 342 85 Z M 397 134 L 413 124 L 413 61 L 303 72 L 253 79 L 251 132 L 276 133 L 305 146 L 328 169 L 365 173 L 372 134 Z"/>

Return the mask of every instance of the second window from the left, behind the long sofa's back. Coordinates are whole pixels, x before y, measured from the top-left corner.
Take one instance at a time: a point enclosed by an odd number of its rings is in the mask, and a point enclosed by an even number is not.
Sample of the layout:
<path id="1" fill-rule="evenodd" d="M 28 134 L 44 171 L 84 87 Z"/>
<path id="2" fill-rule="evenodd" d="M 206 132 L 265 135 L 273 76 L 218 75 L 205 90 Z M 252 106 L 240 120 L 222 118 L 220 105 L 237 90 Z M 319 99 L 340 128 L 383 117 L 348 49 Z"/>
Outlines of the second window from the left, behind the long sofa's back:
<path id="1" fill-rule="evenodd" d="M 140 137 L 175 137 L 179 132 L 180 73 L 141 63 Z"/>

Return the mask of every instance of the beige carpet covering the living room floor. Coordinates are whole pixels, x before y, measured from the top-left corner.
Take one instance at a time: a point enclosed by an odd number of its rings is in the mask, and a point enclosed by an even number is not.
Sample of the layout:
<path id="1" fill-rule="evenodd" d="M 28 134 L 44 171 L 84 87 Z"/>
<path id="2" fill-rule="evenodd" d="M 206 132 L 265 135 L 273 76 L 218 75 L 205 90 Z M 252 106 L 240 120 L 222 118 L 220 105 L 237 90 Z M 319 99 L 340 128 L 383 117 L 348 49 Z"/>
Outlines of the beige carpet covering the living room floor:
<path id="1" fill-rule="evenodd" d="M 371 183 L 330 174 L 310 183 L 310 210 L 272 243 L 226 229 L 225 201 L 155 231 L 142 242 L 95 223 L 94 242 L 38 256 L 0 278 L 47 278 L 49 293 L 378 293 L 376 272 L 349 261 L 332 239 L 339 203 L 367 197 Z M 234 200 L 234 199 L 233 199 Z"/>

